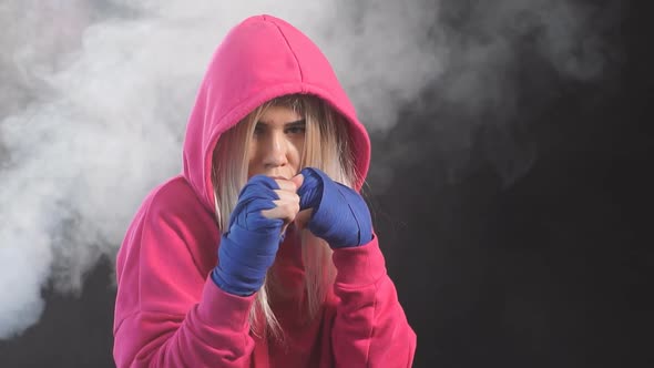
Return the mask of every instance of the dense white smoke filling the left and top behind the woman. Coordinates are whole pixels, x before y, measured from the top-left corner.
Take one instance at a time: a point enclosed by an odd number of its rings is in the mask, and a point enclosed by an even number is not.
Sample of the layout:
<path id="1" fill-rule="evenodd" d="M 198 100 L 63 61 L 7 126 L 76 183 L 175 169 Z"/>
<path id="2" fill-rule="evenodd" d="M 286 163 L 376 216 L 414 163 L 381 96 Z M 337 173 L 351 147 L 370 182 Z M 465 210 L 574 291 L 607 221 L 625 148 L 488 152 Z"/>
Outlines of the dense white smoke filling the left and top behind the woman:
<path id="1" fill-rule="evenodd" d="M 114 259 L 144 195 L 181 171 L 196 89 L 229 28 L 270 13 L 305 31 L 331 60 L 362 121 L 384 131 L 448 68 L 460 71 L 442 98 L 469 101 L 466 109 L 486 104 L 484 76 L 497 70 L 488 62 L 512 58 L 498 48 L 501 38 L 487 49 L 454 38 L 438 22 L 440 3 L 3 1 L 0 338 L 38 321 L 49 282 L 78 292 L 100 257 Z M 590 34 L 576 25 L 587 12 L 564 0 L 492 3 L 480 18 L 490 24 L 480 28 L 528 14 L 519 32 L 545 29 L 540 48 L 558 69 L 581 76 L 601 70 L 600 58 L 568 58 Z M 500 84 L 492 91 L 503 91 Z"/>

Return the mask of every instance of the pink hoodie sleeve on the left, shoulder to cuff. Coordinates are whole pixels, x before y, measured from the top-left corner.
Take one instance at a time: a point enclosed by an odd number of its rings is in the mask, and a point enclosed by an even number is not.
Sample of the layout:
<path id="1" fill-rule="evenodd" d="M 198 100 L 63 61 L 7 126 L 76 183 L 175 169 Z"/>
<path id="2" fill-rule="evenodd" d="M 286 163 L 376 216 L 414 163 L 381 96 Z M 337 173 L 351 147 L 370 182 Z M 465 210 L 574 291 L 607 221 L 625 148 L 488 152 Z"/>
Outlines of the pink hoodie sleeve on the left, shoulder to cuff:
<path id="1" fill-rule="evenodd" d="M 226 294 L 207 277 L 207 262 L 198 255 L 203 237 L 214 237 L 203 235 L 206 221 L 154 205 L 140 218 L 116 264 L 116 366 L 249 366 L 254 296 Z M 215 245 L 204 246 L 215 252 Z M 210 259 L 215 263 L 215 256 Z"/>

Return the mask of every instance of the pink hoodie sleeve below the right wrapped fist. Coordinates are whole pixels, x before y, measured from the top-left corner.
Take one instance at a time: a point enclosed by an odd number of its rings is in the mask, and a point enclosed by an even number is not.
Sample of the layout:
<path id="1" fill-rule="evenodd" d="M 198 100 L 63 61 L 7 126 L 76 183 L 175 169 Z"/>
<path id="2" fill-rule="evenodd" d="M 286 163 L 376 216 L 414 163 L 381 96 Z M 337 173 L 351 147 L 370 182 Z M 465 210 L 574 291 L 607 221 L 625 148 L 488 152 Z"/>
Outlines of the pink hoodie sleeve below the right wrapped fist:
<path id="1" fill-rule="evenodd" d="M 416 334 L 386 274 L 377 237 L 334 251 L 339 299 L 331 331 L 337 367 L 411 367 Z"/>

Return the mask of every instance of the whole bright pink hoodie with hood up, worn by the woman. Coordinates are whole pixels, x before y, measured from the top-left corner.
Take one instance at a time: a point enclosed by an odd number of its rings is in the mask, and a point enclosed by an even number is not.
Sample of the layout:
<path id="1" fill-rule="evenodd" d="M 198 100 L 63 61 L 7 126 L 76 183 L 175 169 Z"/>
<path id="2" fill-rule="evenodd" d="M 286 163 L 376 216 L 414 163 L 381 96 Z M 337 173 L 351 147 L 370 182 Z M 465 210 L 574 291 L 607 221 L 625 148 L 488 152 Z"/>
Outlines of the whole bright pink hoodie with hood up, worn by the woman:
<path id="1" fill-rule="evenodd" d="M 184 142 L 184 173 L 154 188 L 134 217 L 116 260 L 117 367 L 410 367 L 416 335 L 386 274 L 377 238 L 336 249 L 334 295 L 321 318 L 303 324 L 297 301 L 274 305 L 286 345 L 249 334 L 255 296 L 221 290 L 208 277 L 219 242 L 211 159 L 221 134 L 275 96 L 310 93 L 350 123 L 360 190 L 370 161 L 365 127 L 318 48 L 285 21 L 252 17 L 216 50 Z M 299 283 L 296 237 L 276 267 Z M 289 284 L 290 285 L 290 284 Z"/>

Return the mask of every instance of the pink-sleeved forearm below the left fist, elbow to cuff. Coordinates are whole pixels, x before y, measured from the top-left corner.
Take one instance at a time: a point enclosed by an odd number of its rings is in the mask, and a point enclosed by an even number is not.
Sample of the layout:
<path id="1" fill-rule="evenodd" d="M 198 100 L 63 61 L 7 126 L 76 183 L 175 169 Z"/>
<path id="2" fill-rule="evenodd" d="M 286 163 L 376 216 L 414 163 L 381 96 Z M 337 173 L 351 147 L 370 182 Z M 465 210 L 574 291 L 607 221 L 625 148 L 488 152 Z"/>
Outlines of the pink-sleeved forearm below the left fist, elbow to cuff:
<path id="1" fill-rule="evenodd" d="M 115 331 L 117 367 L 247 367 L 254 340 L 248 314 L 254 296 L 239 297 L 210 279 L 185 316 L 136 311 Z"/>

